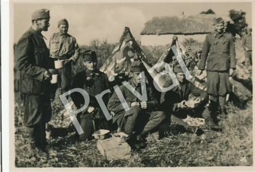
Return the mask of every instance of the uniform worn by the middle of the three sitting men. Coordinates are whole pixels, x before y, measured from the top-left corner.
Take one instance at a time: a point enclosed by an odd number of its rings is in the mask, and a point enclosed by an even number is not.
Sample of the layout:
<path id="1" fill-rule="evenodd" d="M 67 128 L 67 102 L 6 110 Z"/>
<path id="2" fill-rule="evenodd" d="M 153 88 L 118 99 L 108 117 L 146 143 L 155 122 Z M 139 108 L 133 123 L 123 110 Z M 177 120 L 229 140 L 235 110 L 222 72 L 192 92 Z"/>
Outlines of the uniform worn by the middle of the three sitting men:
<path id="1" fill-rule="evenodd" d="M 133 64 L 131 64 L 132 66 Z M 130 80 L 130 85 L 135 88 L 135 90 L 142 94 L 142 88 L 140 84 L 136 85 L 132 79 Z M 117 93 L 114 92 L 112 97 L 107 104 L 107 108 L 114 112 L 113 122 L 117 122 L 118 127 L 123 130 L 126 134 L 139 134 L 144 137 L 152 129 L 159 126 L 159 124 L 165 119 L 164 112 L 156 111 L 158 107 L 158 101 L 154 98 L 152 88 L 147 85 L 147 109 L 142 109 L 139 106 L 132 106 L 132 102 L 140 102 L 140 100 L 134 95 L 127 87 L 121 85 L 120 91 L 122 92 L 130 110 L 125 112 Z"/>

